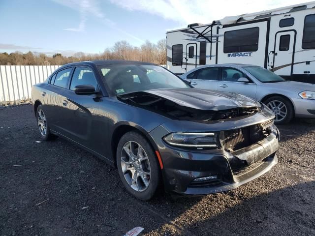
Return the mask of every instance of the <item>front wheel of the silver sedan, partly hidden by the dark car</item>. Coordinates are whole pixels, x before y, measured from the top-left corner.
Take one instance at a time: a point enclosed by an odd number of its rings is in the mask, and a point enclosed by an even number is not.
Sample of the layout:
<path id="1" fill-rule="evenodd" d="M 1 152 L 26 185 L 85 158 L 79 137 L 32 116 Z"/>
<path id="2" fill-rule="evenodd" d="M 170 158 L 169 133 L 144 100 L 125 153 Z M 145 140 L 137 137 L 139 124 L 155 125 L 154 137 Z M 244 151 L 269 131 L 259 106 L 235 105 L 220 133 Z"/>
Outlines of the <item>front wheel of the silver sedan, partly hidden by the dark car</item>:
<path id="1" fill-rule="evenodd" d="M 275 113 L 275 124 L 286 124 L 294 117 L 292 103 L 283 96 L 273 96 L 264 102 Z"/>

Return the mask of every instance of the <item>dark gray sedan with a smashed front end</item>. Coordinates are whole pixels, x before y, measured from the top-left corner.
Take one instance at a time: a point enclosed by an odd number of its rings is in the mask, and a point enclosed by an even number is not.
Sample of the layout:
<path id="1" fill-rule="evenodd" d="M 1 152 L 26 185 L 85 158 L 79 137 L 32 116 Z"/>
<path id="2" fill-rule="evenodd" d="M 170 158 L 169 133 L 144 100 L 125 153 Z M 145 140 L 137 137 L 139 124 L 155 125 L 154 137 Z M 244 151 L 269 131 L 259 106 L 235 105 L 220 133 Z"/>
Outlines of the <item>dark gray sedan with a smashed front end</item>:
<path id="1" fill-rule="evenodd" d="M 66 64 L 33 86 L 32 103 L 43 140 L 60 136 L 103 158 L 141 200 L 162 187 L 182 195 L 234 189 L 277 163 L 270 109 L 191 88 L 155 64 Z"/>

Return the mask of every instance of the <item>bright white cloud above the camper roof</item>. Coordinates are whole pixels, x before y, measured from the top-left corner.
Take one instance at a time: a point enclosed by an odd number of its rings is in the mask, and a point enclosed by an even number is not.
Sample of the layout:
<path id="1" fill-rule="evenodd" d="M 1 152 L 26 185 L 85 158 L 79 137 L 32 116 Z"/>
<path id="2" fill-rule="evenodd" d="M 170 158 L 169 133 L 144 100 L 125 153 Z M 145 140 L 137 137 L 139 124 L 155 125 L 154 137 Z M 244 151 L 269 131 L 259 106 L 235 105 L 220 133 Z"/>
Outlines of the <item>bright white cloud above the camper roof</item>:
<path id="1" fill-rule="evenodd" d="M 110 0 L 130 11 L 148 12 L 181 26 L 302 3 L 305 0 Z"/>

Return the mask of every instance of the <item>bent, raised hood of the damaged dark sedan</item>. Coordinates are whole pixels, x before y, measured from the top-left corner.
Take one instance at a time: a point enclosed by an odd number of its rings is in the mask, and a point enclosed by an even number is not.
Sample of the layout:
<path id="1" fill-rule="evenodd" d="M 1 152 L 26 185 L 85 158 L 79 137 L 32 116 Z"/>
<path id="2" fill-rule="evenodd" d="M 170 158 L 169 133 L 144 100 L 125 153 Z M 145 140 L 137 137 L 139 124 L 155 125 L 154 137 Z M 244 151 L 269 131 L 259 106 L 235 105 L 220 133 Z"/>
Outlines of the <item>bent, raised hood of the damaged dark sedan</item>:
<path id="1" fill-rule="evenodd" d="M 161 99 L 167 99 L 179 106 L 208 111 L 221 111 L 237 107 L 261 107 L 259 102 L 244 95 L 209 89 L 152 89 L 126 93 L 118 95 L 117 97 L 124 99 L 139 96 L 154 96 Z M 145 99 L 143 99 L 143 102 L 145 102 Z"/>

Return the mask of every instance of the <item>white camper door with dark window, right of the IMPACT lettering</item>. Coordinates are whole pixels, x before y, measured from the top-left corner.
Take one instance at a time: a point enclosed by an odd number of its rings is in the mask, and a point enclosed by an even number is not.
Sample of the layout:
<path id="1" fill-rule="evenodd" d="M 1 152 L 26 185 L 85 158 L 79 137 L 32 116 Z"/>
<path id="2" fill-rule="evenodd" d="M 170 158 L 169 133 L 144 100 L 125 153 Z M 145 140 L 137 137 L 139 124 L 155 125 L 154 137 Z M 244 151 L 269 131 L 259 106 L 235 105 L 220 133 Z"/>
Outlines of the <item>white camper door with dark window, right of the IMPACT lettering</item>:
<path id="1" fill-rule="evenodd" d="M 278 75 L 290 76 L 293 69 L 295 45 L 295 31 L 283 31 L 276 33 L 273 72 Z"/>

